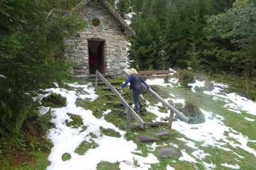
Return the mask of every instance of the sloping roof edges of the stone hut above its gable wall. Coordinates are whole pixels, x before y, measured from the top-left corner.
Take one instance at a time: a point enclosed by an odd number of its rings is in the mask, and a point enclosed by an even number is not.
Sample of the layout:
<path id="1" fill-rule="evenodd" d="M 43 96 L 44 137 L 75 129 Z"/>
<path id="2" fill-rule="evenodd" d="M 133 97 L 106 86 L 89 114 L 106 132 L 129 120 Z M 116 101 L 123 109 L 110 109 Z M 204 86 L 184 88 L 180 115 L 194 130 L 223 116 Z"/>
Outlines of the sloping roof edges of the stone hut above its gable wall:
<path id="1" fill-rule="evenodd" d="M 119 23 L 123 26 L 123 33 L 126 37 L 130 37 L 131 35 L 135 35 L 135 31 L 133 28 L 131 28 L 125 20 L 114 10 L 114 8 L 107 2 L 106 0 L 82 0 L 76 7 L 73 8 L 73 10 L 78 11 L 82 7 L 84 7 L 88 2 L 94 1 L 94 2 L 100 2 L 106 9 L 109 10 L 109 12 L 118 20 Z"/>

